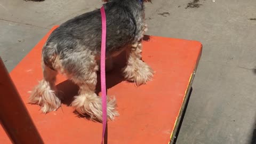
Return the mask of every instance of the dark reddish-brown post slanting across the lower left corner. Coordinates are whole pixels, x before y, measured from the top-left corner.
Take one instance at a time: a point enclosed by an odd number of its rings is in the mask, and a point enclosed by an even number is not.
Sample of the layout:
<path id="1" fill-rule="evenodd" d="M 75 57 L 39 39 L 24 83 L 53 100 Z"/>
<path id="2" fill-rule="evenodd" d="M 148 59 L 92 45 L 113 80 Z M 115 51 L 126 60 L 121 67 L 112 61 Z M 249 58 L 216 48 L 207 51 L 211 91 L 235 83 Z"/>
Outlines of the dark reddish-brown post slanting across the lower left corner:
<path id="1" fill-rule="evenodd" d="M 43 143 L 1 58 L 0 122 L 15 144 Z"/>

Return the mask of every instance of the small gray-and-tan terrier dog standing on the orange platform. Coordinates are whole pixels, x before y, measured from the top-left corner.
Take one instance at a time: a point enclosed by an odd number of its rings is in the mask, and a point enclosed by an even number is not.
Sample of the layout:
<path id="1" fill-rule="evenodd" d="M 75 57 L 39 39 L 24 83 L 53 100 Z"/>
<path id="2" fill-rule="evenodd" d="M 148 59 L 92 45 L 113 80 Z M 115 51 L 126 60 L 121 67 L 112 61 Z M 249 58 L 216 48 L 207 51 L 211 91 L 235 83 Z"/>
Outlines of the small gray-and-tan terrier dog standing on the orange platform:
<path id="1" fill-rule="evenodd" d="M 142 61 L 142 37 L 147 30 L 144 3 L 151 0 L 104 0 L 107 18 L 106 70 L 111 59 L 126 52 L 126 66 L 122 69 L 126 80 L 137 86 L 153 78 L 154 71 Z M 102 121 L 101 98 L 95 93 L 101 49 L 100 10 L 84 13 L 55 29 L 42 50 L 43 80 L 29 97 L 30 103 L 41 106 L 43 113 L 57 110 L 61 105 L 56 95 L 55 80 L 59 73 L 79 87 L 71 106 L 81 115 Z M 119 114 L 115 98 L 107 103 L 108 119 Z"/>

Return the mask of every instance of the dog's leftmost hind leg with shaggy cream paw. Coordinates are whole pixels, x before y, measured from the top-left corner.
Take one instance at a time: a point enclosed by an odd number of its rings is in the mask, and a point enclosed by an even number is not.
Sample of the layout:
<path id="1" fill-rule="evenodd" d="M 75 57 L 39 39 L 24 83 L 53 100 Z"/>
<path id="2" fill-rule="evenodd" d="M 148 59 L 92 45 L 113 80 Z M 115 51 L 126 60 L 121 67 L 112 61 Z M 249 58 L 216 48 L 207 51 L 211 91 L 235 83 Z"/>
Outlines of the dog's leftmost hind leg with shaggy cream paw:
<path id="1" fill-rule="evenodd" d="M 37 103 L 41 106 L 43 113 L 57 110 L 60 107 L 60 99 L 55 95 L 55 81 L 58 74 L 57 71 L 43 66 L 43 80 L 39 82 L 29 97 L 30 103 Z"/>

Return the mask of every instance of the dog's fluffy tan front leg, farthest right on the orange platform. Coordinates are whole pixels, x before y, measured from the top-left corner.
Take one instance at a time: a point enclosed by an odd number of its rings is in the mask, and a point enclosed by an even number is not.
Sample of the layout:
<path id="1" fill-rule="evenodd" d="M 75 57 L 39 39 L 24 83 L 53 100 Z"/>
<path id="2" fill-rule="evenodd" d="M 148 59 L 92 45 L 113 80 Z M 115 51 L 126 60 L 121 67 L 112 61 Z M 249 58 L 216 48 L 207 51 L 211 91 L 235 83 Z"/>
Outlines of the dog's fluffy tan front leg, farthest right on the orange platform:
<path id="1" fill-rule="evenodd" d="M 123 68 L 123 75 L 128 81 L 135 82 L 137 86 L 146 84 L 153 78 L 154 71 L 147 63 L 142 61 L 141 42 L 132 45 L 129 51 L 126 51 L 127 65 Z"/>

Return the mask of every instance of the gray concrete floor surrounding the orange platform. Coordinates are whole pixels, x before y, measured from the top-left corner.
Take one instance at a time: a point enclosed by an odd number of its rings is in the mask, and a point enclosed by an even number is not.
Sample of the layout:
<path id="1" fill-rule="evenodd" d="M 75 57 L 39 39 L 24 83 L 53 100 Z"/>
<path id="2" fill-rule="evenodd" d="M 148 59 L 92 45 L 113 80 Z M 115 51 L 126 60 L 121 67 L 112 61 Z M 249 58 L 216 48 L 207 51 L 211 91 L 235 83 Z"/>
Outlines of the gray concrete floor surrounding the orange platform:
<path id="1" fill-rule="evenodd" d="M 0 56 L 7 69 L 52 26 L 100 6 L 100 0 L 0 0 Z M 256 1 L 157 0 L 146 6 L 147 34 L 203 43 L 177 143 L 256 143 Z"/>

